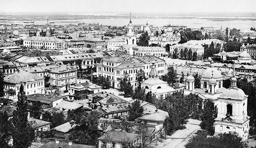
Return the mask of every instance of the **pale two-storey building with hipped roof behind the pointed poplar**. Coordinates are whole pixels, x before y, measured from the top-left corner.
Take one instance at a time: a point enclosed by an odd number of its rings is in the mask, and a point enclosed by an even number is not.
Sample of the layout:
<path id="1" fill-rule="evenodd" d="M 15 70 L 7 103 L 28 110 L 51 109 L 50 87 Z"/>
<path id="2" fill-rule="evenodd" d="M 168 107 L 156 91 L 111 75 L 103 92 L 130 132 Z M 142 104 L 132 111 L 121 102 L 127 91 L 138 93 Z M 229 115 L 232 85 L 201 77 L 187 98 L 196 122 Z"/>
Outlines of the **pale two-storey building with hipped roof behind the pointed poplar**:
<path id="1" fill-rule="evenodd" d="M 13 89 L 16 92 L 15 97 L 17 97 L 21 85 L 23 85 L 26 95 L 44 94 L 44 77 L 40 77 L 27 71 L 22 71 L 4 77 L 5 95 L 10 96 L 8 90 Z"/>

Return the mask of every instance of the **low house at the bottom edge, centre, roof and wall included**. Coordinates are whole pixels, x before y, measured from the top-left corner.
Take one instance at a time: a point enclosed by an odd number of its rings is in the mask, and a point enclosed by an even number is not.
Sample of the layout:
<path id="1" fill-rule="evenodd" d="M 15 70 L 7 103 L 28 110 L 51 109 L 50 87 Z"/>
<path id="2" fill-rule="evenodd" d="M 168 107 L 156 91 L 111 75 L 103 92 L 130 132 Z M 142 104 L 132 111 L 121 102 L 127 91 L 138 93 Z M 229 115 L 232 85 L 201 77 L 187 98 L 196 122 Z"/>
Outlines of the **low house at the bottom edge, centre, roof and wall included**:
<path id="1" fill-rule="evenodd" d="M 110 131 L 98 138 L 98 144 L 98 148 L 124 148 L 141 146 L 142 135 L 127 133 L 124 131 Z"/>

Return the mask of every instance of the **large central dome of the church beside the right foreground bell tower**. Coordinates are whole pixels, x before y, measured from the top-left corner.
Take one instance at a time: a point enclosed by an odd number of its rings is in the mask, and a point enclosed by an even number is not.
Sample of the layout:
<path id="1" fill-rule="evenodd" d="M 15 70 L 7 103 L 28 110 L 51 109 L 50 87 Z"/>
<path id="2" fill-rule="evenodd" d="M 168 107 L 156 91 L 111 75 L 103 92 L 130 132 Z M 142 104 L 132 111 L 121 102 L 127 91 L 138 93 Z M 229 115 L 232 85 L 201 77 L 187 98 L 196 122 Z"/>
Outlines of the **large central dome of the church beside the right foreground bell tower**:
<path id="1" fill-rule="evenodd" d="M 213 61 L 211 61 L 211 66 L 209 68 L 207 68 L 202 73 L 202 78 L 212 79 L 212 76 L 213 76 L 214 79 L 223 78 L 222 75 L 221 75 L 221 72 L 218 69 L 214 68 L 214 66 L 212 64 L 213 64 Z"/>

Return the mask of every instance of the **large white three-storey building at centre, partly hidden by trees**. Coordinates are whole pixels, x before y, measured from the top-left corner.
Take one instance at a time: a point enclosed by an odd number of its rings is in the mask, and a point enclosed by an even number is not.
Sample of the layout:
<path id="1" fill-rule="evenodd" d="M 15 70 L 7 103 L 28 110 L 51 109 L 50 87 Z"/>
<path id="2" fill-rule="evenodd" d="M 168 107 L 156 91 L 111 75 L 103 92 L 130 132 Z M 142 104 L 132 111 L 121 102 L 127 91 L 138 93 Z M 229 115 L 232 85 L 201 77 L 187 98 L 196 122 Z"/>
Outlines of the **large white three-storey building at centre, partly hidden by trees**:
<path id="1" fill-rule="evenodd" d="M 120 79 L 127 73 L 131 85 L 137 86 L 137 71 L 144 70 L 145 76 L 148 77 L 153 60 L 156 63 L 156 71 L 161 77 L 164 75 L 165 61 L 154 56 L 139 58 L 127 56 L 103 59 L 102 64 L 97 64 L 97 77 L 108 77 L 114 88 L 119 88 Z"/>

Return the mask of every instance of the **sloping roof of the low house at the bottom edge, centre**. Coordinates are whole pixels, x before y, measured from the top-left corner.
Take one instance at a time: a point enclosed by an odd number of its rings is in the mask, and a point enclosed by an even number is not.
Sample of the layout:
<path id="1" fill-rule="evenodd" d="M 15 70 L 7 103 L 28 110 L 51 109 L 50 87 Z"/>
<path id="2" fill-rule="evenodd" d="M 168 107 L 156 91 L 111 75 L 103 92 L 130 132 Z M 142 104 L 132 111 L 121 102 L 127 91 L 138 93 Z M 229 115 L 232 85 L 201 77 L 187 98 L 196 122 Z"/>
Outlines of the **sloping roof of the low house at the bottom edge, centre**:
<path id="1" fill-rule="evenodd" d="M 102 137 L 98 138 L 98 140 L 130 143 L 139 136 L 139 134 L 127 133 L 123 131 L 110 131 Z"/>

